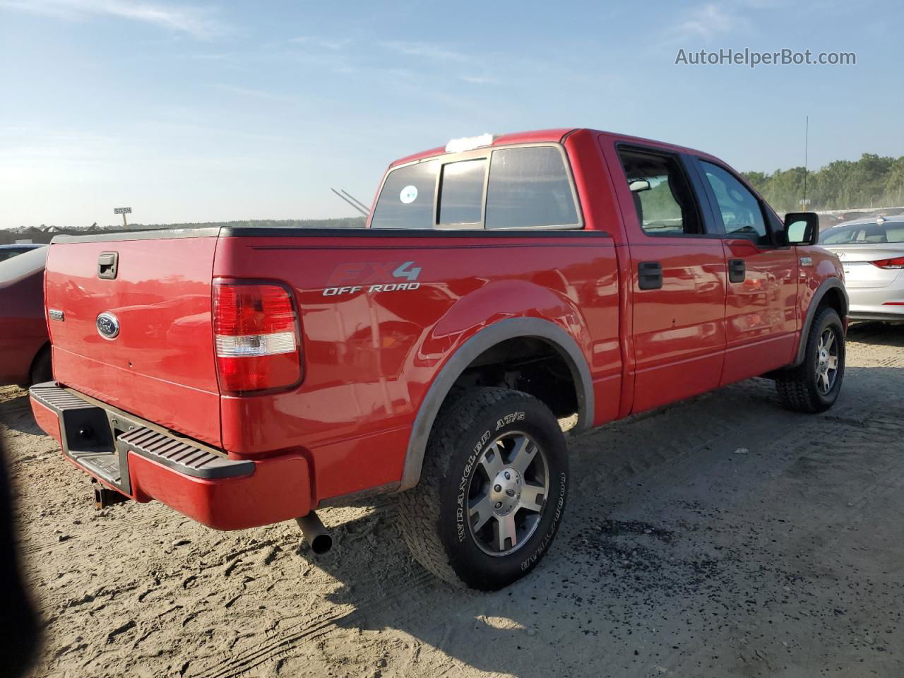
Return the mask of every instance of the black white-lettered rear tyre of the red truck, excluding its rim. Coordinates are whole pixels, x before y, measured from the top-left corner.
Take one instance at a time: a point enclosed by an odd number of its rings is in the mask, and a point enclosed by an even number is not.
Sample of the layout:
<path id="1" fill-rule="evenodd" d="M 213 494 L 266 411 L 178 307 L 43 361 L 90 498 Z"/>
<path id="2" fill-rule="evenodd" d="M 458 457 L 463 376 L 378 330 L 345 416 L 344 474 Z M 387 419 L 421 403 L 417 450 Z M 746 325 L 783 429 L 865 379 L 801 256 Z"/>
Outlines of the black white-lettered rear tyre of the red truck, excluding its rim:
<path id="1" fill-rule="evenodd" d="M 530 536 L 512 552 L 490 554 L 472 531 L 468 488 L 494 440 L 522 434 L 542 452 L 548 491 Z M 536 567 L 549 549 L 565 510 L 568 480 L 565 438 L 540 400 L 499 388 L 462 391 L 438 414 L 419 484 L 399 495 L 402 537 L 415 560 L 441 579 L 502 589 Z"/>

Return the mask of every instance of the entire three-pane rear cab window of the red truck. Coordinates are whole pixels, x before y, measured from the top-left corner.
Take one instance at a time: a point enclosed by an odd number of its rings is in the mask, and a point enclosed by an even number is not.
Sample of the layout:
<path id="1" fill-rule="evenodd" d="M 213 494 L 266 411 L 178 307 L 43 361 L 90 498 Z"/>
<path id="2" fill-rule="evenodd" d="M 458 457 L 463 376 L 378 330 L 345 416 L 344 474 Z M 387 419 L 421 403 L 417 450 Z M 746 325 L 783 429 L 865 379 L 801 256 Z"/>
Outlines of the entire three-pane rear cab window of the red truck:
<path id="1" fill-rule="evenodd" d="M 558 144 L 479 148 L 386 175 L 374 229 L 580 229 L 577 193 Z"/>

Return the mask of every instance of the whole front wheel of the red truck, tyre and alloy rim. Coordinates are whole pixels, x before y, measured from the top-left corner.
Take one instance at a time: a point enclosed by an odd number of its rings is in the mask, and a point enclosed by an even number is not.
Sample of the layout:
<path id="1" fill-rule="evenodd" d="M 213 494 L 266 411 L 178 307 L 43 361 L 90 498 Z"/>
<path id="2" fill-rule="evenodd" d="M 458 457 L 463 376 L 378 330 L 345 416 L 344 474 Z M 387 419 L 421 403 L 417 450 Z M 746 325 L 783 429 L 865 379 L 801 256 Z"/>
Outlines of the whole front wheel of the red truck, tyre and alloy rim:
<path id="1" fill-rule="evenodd" d="M 819 311 L 805 338 L 804 362 L 779 372 L 778 399 L 788 410 L 822 412 L 838 399 L 844 379 L 844 328 L 833 309 Z"/>

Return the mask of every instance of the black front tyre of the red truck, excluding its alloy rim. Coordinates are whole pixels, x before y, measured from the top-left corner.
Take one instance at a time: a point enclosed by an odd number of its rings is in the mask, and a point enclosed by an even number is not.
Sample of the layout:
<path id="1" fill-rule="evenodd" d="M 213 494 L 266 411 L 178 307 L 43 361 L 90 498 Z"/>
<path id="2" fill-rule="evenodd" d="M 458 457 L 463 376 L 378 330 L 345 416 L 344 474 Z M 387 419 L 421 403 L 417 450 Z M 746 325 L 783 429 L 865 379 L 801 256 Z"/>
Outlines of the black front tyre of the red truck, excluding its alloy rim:
<path id="1" fill-rule="evenodd" d="M 819 342 L 820 337 L 830 330 L 838 344 L 838 368 L 834 375 L 832 387 L 827 392 L 820 390 L 817 381 L 819 374 Z M 786 410 L 815 413 L 831 408 L 842 388 L 844 379 L 844 327 L 838 313 L 826 306 L 817 311 L 810 332 L 804 341 L 806 348 L 804 362 L 796 368 L 778 372 L 776 389 L 778 400 Z"/>

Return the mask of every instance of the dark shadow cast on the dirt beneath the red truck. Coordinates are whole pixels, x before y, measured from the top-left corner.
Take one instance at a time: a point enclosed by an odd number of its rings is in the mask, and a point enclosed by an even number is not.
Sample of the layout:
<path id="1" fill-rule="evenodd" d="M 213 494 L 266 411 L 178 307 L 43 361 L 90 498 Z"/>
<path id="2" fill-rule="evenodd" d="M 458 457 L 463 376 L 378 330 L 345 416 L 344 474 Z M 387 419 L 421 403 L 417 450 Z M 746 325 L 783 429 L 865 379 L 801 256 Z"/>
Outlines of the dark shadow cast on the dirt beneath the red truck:
<path id="1" fill-rule="evenodd" d="M 788 646 L 837 655 L 854 643 L 835 622 L 843 610 L 858 608 L 871 624 L 896 614 L 878 593 L 863 598 L 839 583 L 834 567 L 875 583 L 856 555 L 833 555 L 829 567 L 820 547 L 832 541 L 826 526 L 845 520 L 837 507 L 868 495 L 880 466 L 902 475 L 897 455 L 863 445 L 904 432 L 902 375 L 850 368 L 843 397 L 823 415 L 779 410 L 771 382 L 756 380 L 573 438 L 557 541 L 540 567 L 502 591 L 455 589 L 428 575 L 404 551 L 391 502 L 339 526 L 325 558 L 306 547 L 298 555 L 344 582 L 328 599 L 353 611 L 335 626 L 379 632 L 372 642 L 386 647 L 414 645 L 416 659 L 419 644 L 439 651 L 423 660 L 433 664 L 400 674 L 466 664 L 520 677 L 679 666 L 733 675 L 771 673 Z M 867 394 L 896 383 L 884 411 L 871 410 Z M 863 540 L 881 538 L 881 527 L 858 529 Z M 894 571 L 901 555 L 874 554 L 868 570 Z M 900 601 L 904 588 L 891 595 Z M 380 656 L 372 649 L 366 654 Z"/>

